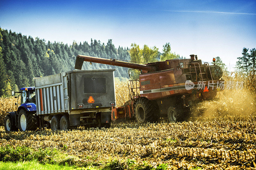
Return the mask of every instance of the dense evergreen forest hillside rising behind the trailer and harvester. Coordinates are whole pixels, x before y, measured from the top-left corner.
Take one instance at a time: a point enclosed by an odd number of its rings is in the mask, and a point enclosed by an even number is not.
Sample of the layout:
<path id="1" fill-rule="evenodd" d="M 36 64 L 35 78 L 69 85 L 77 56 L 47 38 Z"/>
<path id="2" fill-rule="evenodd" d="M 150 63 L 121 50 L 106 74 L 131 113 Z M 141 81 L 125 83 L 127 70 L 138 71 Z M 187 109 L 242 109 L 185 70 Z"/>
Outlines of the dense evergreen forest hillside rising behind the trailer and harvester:
<path id="1" fill-rule="evenodd" d="M 136 47 L 135 47 L 136 46 Z M 138 59 L 132 50 L 137 48 Z M 101 58 L 154 62 L 164 59 L 179 58 L 171 52 L 170 43 L 163 46 L 163 53 L 156 47 L 144 45 L 140 48 L 132 44 L 128 47 L 116 48 L 109 39 L 107 44 L 91 39 L 71 45 L 62 42 L 46 42 L 44 39 L 32 38 L 21 33 L 4 30 L 0 27 L 0 97 L 10 96 L 11 91 L 21 87 L 34 86 L 34 77 L 42 77 L 74 70 L 78 54 Z M 131 54 L 131 55 L 130 55 Z M 105 64 L 84 62 L 82 69 L 116 68 L 115 77 L 127 79 L 129 68 L 115 67 Z"/>

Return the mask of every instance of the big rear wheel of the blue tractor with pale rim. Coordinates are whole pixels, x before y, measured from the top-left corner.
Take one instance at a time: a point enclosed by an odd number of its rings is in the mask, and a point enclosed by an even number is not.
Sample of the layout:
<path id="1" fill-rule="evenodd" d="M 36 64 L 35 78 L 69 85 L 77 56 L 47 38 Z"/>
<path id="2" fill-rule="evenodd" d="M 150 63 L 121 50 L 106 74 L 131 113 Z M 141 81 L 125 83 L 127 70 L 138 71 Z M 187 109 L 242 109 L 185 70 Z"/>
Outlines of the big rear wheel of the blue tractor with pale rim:
<path id="1" fill-rule="evenodd" d="M 38 127 L 37 117 L 35 113 L 21 109 L 18 115 L 18 124 L 20 131 L 35 131 Z"/>

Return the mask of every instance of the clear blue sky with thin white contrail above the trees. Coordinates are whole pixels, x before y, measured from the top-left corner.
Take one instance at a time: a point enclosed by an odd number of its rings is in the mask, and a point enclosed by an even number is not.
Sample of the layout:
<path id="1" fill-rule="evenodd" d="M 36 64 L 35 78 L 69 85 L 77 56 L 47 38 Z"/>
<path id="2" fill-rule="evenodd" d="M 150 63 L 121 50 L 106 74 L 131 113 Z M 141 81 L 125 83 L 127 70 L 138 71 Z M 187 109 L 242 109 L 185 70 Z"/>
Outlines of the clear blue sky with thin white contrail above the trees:
<path id="1" fill-rule="evenodd" d="M 71 44 L 156 46 L 233 67 L 243 47 L 256 48 L 256 1 L 0 1 L 3 29 Z M 231 69 L 233 70 L 233 69 Z"/>

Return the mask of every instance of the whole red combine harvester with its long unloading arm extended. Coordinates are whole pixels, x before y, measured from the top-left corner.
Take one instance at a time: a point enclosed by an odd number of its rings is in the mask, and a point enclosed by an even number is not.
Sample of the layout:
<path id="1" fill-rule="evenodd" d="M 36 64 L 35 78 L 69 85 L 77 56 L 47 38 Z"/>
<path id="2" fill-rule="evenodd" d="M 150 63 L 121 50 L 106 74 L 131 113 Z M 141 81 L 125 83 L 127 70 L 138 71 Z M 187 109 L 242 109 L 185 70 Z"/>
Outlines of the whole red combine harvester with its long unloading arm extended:
<path id="1" fill-rule="evenodd" d="M 135 117 L 138 123 L 144 123 L 167 117 L 170 122 L 183 121 L 193 106 L 204 100 L 215 99 L 217 92 L 224 89 L 222 69 L 215 63 L 202 64 L 197 55 L 190 55 L 190 59 L 172 59 L 145 65 L 77 55 L 75 68 L 82 69 L 84 61 L 141 71 L 139 79 L 129 80 L 130 100 L 123 107 L 112 108 L 112 120 Z"/>

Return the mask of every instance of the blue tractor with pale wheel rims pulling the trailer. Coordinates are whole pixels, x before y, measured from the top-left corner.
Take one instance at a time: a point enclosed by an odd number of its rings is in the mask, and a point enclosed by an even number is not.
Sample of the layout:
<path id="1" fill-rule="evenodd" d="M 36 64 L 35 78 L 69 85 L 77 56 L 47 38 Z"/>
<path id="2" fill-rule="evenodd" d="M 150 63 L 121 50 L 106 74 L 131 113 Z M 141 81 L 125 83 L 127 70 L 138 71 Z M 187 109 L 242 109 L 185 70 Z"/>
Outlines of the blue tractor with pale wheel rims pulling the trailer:
<path id="1" fill-rule="evenodd" d="M 12 91 L 19 96 L 15 105 L 20 105 L 17 111 L 8 112 L 4 119 L 4 128 L 9 131 L 34 131 L 39 127 L 39 118 L 36 115 L 36 93 L 35 87 L 24 87 L 19 92 Z M 20 99 L 20 100 L 19 100 Z M 20 101 L 20 103 L 19 103 Z"/>

